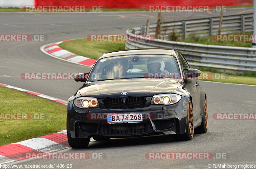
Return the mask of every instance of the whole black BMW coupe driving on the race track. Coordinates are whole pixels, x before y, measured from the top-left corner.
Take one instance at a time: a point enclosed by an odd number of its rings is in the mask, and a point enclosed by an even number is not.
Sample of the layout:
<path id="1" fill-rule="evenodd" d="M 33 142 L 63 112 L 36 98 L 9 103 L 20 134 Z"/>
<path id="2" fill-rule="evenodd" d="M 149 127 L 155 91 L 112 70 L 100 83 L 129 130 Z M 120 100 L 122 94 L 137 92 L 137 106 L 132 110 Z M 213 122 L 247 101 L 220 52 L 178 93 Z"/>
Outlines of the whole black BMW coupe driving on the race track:
<path id="1" fill-rule="evenodd" d="M 208 129 L 206 93 L 175 49 L 133 49 L 100 56 L 68 99 L 67 135 L 73 148 L 90 138 L 173 135 L 191 140 Z"/>

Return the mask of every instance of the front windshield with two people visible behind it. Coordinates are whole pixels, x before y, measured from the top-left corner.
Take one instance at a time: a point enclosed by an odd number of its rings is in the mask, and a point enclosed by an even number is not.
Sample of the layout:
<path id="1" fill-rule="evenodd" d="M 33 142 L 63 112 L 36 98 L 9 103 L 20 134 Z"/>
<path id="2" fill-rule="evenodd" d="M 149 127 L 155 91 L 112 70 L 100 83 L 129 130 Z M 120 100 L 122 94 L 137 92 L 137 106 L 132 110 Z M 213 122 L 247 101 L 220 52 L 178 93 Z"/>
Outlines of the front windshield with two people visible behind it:
<path id="1" fill-rule="evenodd" d="M 88 82 L 124 78 L 143 78 L 149 73 L 179 73 L 176 58 L 171 55 L 125 55 L 100 59 Z"/>

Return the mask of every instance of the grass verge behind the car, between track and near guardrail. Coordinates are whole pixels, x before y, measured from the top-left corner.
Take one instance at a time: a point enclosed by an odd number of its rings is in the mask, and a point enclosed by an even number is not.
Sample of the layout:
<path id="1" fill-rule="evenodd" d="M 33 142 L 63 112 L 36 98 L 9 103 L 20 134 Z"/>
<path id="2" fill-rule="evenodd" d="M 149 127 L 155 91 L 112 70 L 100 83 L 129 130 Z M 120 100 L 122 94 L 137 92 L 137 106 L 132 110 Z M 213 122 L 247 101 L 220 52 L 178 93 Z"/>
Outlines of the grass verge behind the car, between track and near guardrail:
<path id="1" fill-rule="evenodd" d="M 70 40 L 61 43 L 60 48 L 68 50 L 77 55 L 82 55 L 92 59 L 98 59 L 103 53 L 115 50 L 124 50 L 124 41 L 88 41 L 85 39 Z M 211 68 L 195 67 L 202 72 L 223 73 Z M 246 85 L 256 85 L 256 73 L 244 73 L 243 75 L 227 74 L 227 79 L 210 79 L 208 81 L 238 83 Z"/>

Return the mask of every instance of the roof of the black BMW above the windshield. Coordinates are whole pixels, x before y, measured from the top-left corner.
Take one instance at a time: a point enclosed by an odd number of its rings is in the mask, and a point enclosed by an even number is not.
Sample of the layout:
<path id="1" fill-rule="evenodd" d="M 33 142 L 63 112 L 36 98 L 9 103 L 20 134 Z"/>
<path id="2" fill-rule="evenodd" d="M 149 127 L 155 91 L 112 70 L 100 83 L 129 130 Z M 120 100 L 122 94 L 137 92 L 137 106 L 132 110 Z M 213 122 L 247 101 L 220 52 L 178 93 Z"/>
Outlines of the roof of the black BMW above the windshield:
<path id="1" fill-rule="evenodd" d="M 160 54 L 160 55 L 173 55 L 177 56 L 179 51 L 176 49 L 161 49 L 161 48 L 148 48 L 148 49 L 130 49 L 130 50 L 119 50 L 113 52 L 107 52 L 100 56 L 99 59 L 112 56 L 121 55 L 149 55 L 149 54 Z M 176 55 L 175 55 L 176 54 Z"/>

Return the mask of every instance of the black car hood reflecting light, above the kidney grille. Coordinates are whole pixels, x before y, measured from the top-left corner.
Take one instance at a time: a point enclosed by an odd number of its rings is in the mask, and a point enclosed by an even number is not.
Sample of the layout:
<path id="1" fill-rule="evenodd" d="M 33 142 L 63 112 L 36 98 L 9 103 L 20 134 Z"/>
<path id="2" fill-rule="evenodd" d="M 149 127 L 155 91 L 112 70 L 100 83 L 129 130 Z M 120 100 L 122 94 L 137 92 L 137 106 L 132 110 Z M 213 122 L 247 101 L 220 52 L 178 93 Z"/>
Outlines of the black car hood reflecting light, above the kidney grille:
<path id="1" fill-rule="evenodd" d="M 176 79 L 116 79 L 86 83 L 79 92 L 83 97 L 96 98 L 153 96 L 171 93 L 182 83 Z M 122 92 L 128 93 L 122 95 Z"/>

